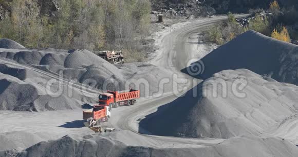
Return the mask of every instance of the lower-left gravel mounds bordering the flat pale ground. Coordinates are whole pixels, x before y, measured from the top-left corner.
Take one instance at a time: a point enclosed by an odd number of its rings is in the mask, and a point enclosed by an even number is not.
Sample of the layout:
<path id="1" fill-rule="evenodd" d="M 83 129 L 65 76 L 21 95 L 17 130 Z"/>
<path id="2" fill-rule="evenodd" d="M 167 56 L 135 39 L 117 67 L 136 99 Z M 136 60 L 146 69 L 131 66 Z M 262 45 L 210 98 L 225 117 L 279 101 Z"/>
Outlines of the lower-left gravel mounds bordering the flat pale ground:
<path id="1" fill-rule="evenodd" d="M 38 77 L 38 75 L 35 75 Z M 21 76 L 23 78 L 23 76 Z M 45 111 L 80 108 L 82 97 L 66 94 L 51 95 L 43 93 L 45 89 L 39 84 L 30 84 L 17 77 L 0 73 L 0 110 Z M 54 88 L 55 86 L 53 86 Z M 74 91 L 76 92 L 76 91 Z"/>

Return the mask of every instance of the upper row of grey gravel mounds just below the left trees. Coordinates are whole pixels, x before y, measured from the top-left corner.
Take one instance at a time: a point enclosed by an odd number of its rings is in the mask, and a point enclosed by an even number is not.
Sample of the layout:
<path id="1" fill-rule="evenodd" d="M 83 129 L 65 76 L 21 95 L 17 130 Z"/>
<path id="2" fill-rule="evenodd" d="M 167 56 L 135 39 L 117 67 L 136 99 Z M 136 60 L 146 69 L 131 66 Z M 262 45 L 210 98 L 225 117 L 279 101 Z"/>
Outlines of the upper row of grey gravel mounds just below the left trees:
<path id="1" fill-rule="evenodd" d="M 29 65 L 41 70 L 60 74 L 69 80 L 77 80 L 79 83 L 91 85 L 101 89 L 107 78 L 111 82 L 123 82 L 121 71 L 114 65 L 87 50 L 69 50 L 68 52 L 56 52 L 45 50 L 2 51 L 0 57 L 16 61 L 22 65 Z M 65 76 L 64 76 L 65 75 Z M 114 79 L 111 76 L 118 76 Z M 115 90 L 109 86 L 107 90 Z"/>

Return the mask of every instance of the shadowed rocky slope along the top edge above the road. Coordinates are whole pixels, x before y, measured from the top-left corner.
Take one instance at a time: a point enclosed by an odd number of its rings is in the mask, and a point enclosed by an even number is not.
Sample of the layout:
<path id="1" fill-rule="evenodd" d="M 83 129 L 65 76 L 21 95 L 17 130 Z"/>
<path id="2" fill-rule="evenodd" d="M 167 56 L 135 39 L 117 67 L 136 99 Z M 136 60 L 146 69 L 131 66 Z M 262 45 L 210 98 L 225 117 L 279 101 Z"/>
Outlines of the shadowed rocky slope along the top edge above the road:
<path id="1" fill-rule="evenodd" d="M 267 9 L 271 0 L 184 0 L 184 1 L 157 1 L 151 0 L 153 10 L 160 11 L 161 13 L 173 12 L 175 16 L 188 16 L 189 14 L 212 14 L 231 12 L 247 12 L 250 9 L 263 8 Z M 278 0 L 278 3 L 283 7 L 295 6 L 298 8 L 296 0 Z M 211 8 L 214 11 L 210 11 Z M 207 13 L 208 12 L 208 13 Z"/>

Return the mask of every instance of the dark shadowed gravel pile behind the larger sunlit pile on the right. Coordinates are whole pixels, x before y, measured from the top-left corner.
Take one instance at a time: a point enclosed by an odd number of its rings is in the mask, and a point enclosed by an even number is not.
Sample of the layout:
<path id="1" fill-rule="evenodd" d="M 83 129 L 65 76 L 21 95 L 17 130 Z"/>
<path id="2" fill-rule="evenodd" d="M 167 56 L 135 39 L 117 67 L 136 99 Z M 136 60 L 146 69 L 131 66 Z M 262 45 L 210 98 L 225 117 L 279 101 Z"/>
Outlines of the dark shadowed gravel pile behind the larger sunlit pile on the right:
<path id="1" fill-rule="evenodd" d="M 204 69 L 197 77 L 207 79 L 222 70 L 248 69 L 278 82 L 298 85 L 297 56 L 297 45 L 250 30 L 203 57 L 200 64 Z M 187 73 L 186 69 L 182 71 Z"/>

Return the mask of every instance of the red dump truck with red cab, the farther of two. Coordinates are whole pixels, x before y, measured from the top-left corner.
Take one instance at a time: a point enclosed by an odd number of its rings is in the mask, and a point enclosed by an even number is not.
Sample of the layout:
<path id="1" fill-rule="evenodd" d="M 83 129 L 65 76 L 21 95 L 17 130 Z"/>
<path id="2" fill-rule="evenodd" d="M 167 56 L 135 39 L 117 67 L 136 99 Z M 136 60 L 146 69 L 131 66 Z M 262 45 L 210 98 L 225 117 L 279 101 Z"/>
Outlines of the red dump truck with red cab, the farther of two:
<path id="1" fill-rule="evenodd" d="M 98 96 L 99 105 L 118 107 L 120 105 L 134 105 L 140 97 L 139 90 L 128 90 L 128 91 L 107 91 L 107 93 L 100 94 Z"/>

